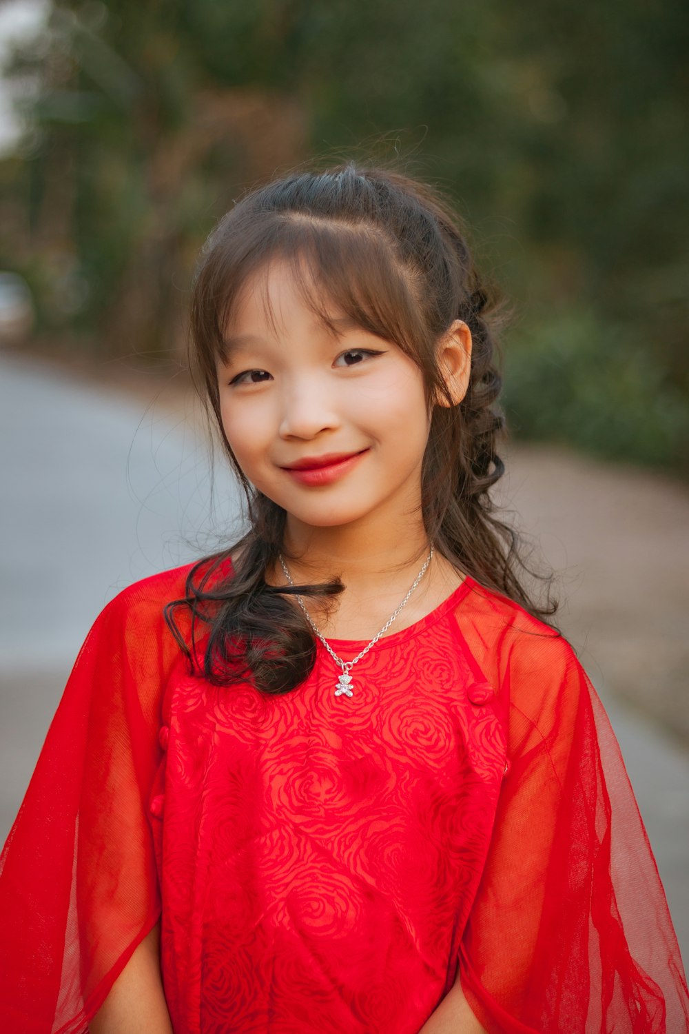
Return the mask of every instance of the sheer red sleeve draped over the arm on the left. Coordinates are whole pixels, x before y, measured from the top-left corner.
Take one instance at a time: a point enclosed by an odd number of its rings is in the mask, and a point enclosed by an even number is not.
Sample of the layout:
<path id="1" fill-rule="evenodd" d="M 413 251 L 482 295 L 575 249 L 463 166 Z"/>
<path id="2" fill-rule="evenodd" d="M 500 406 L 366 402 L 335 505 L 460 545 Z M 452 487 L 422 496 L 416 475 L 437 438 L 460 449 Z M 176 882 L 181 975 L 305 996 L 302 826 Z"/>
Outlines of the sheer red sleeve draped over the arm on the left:
<path id="1" fill-rule="evenodd" d="M 174 640 L 161 578 L 93 626 L 0 860 L 0 1030 L 82 1034 L 160 913 L 149 799 Z M 151 592 L 156 585 L 160 591 Z M 175 587 L 167 599 L 175 598 Z"/>

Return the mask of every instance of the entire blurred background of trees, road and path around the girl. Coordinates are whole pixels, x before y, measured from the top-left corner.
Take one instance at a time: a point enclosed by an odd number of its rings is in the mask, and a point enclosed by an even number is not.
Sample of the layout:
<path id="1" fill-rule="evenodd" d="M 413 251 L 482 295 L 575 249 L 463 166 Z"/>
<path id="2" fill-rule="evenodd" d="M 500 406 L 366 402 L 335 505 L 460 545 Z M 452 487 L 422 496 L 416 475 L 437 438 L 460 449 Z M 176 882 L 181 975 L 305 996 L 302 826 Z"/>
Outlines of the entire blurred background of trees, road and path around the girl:
<path id="1" fill-rule="evenodd" d="M 444 187 L 509 301 L 501 498 L 686 950 L 687 53 L 682 0 L 0 2 L 5 830 L 97 610 L 237 511 L 185 372 L 207 234 L 276 171 L 373 157 Z"/>

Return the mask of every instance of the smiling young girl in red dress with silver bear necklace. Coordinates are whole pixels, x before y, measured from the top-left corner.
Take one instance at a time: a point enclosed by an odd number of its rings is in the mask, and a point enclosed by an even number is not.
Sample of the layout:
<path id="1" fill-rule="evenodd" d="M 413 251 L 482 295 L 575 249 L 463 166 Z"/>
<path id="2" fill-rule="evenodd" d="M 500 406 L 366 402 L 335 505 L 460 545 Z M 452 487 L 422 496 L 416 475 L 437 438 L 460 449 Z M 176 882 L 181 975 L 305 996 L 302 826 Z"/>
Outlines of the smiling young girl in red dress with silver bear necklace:
<path id="1" fill-rule="evenodd" d="M 403 176 L 291 176 L 212 235 L 249 529 L 80 653 L 3 854 L 2 1032 L 688 1029 L 617 742 L 491 504 L 488 304 Z"/>

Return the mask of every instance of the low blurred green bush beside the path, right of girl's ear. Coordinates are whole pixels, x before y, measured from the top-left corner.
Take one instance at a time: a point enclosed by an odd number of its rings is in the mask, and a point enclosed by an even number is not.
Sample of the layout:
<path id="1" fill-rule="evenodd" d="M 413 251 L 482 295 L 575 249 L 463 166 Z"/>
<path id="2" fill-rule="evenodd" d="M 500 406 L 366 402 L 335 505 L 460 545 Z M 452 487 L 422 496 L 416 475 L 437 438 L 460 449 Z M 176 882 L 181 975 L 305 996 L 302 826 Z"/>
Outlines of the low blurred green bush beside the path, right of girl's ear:
<path id="1" fill-rule="evenodd" d="M 591 310 L 551 315 L 506 349 L 509 423 L 516 436 L 689 474 L 689 406 L 661 355 Z"/>

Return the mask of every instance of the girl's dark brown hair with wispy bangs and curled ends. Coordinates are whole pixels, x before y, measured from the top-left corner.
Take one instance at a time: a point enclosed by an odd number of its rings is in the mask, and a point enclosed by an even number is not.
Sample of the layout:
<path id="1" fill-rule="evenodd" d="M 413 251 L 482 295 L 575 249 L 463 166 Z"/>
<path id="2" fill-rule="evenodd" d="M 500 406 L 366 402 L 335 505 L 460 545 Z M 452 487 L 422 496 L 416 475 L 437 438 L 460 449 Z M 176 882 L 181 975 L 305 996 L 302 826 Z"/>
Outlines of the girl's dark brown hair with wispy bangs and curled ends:
<path id="1" fill-rule="evenodd" d="M 520 579 L 530 572 L 516 534 L 496 516 L 489 494 L 504 472 L 496 451 L 504 418 L 495 408 L 501 386 L 490 318 L 495 306 L 449 205 L 406 176 L 354 163 L 300 172 L 243 197 L 209 238 L 191 301 L 192 371 L 221 431 L 216 363 L 224 331 L 248 278 L 274 260 L 291 264 L 307 304 L 325 325 L 335 305 L 364 330 L 395 341 L 420 369 L 431 414 L 421 510 L 434 548 L 530 613 L 553 614 L 556 605 L 549 599 L 538 606 Z M 436 344 L 455 320 L 468 324 L 473 338 L 469 387 L 459 405 L 434 406 L 439 395 L 451 402 Z M 247 496 L 249 530 L 195 565 L 185 598 L 168 604 L 165 616 L 212 682 L 250 678 L 264 693 L 287 693 L 308 676 L 316 653 L 311 628 L 287 596 L 322 598 L 343 585 L 267 583 L 265 572 L 284 552 L 286 515 L 247 481 L 226 442 L 225 448 Z M 191 614 L 190 645 L 178 608 Z"/>

